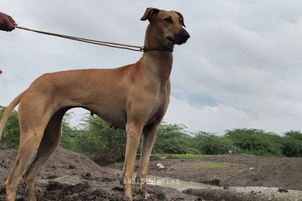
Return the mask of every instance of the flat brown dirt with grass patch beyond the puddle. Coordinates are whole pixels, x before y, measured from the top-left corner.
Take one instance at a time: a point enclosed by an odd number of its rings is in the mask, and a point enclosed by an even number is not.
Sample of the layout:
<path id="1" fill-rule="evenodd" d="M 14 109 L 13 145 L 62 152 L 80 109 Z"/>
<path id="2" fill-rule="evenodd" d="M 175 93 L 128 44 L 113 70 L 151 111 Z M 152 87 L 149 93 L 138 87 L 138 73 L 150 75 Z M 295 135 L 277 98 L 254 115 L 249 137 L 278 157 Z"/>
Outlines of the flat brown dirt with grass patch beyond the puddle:
<path id="1" fill-rule="evenodd" d="M 164 168 L 157 168 L 158 163 L 161 163 Z M 139 159 L 136 161 L 135 171 L 138 170 L 138 165 Z M 111 164 L 108 167 L 122 170 L 123 163 Z M 191 159 L 151 158 L 148 174 L 219 187 L 257 186 L 302 190 L 302 158 L 262 157 L 247 154 Z"/>

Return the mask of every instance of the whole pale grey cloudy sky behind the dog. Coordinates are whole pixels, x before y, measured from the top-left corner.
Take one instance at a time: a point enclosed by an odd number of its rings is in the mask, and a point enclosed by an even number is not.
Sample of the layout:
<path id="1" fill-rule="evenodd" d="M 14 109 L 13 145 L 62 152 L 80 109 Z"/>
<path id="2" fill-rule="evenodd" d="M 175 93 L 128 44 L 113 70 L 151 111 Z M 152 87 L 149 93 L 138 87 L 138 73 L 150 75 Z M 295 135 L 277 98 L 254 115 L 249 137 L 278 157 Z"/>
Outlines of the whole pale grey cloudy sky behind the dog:
<path id="1" fill-rule="evenodd" d="M 165 121 L 220 134 L 237 127 L 302 130 L 302 1 L 0 0 L 0 5 L 21 27 L 137 46 L 143 46 L 148 22 L 140 18 L 147 7 L 179 11 L 191 38 L 173 52 Z M 142 55 L 19 29 L 1 32 L 0 44 L 5 106 L 41 74 L 116 68 Z"/>

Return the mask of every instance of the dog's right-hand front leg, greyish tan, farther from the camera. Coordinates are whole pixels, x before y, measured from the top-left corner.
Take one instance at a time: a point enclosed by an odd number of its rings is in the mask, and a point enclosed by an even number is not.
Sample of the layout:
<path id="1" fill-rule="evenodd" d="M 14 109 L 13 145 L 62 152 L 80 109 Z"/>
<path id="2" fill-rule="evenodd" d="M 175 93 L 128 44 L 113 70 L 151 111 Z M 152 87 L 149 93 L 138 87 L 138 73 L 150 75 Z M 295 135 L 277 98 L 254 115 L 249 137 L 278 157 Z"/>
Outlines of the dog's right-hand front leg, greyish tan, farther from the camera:
<path id="1" fill-rule="evenodd" d="M 150 161 L 150 155 L 154 145 L 156 132 L 159 127 L 159 124 L 160 122 L 156 121 L 150 125 L 146 125 L 143 128 L 143 142 L 142 142 L 142 150 L 140 155 L 140 166 L 135 180 L 140 181 L 139 192 L 141 196 L 143 196 L 145 199 L 152 198 L 152 195 L 147 193 L 146 177 L 147 177 L 147 171 Z"/>

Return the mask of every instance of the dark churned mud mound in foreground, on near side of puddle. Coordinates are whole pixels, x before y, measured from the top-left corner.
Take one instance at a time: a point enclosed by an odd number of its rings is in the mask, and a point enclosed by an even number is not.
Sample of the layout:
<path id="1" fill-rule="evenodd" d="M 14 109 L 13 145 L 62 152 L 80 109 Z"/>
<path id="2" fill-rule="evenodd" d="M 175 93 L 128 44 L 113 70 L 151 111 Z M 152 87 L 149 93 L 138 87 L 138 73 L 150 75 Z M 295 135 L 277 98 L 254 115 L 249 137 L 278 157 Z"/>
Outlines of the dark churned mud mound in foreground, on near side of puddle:
<path id="1" fill-rule="evenodd" d="M 17 150 L 0 150 L 0 200 L 6 199 L 4 182 L 17 153 Z M 123 200 L 124 189 L 119 177 L 119 174 L 104 170 L 84 155 L 58 147 L 38 173 L 35 182 L 37 201 Z M 132 186 L 133 196 L 139 196 L 138 184 Z M 197 199 L 167 187 L 149 185 L 147 190 L 154 194 L 155 200 Z M 18 185 L 16 200 L 28 201 L 23 179 Z"/>

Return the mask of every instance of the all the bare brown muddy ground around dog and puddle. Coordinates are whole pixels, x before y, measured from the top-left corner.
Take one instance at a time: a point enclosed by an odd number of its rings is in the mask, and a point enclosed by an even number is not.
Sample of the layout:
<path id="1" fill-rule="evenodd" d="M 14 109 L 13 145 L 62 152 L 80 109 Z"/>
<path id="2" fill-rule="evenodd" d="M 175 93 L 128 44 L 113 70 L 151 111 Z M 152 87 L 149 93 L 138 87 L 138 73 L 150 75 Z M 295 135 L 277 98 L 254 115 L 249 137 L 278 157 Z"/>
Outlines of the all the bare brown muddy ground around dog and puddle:
<path id="1" fill-rule="evenodd" d="M 14 165 L 16 156 L 16 150 L 0 150 L 1 201 L 5 200 L 3 183 Z M 159 169 L 157 167 L 158 163 L 161 163 L 164 168 Z M 139 158 L 136 161 L 136 172 L 138 165 Z M 123 163 L 114 163 L 107 167 L 122 170 Z M 222 191 L 219 189 L 184 191 L 188 194 L 181 193 L 173 188 L 155 185 L 148 185 L 147 189 L 149 193 L 154 194 L 155 200 L 193 201 L 203 200 L 201 198 L 203 196 L 205 201 L 207 199 L 213 201 L 259 201 L 262 199 L 256 197 L 259 195 L 258 191 L 258 194 L 255 195 L 252 193 L 253 199 L 242 199 L 242 197 L 235 198 L 234 194 L 232 194 L 233 189 L 227 187 L 258 186 L 302 190 L 301 173 L 302 159 L 300 158 L 258 157 L 246 154 L 207 156 L 194 159 L 159 159 L 152 157 L 149 164 L 149 175 L 194 181 L 226 188 L 222 188 Z M 35 187 L 37 201 L 122 200 L 123 187 L 118 179 L 119 174 L 105 170 L 81 154 L 58 147 L 38 174 Z M 133 184 L 133 189 L 133 196 L 138 196 L 138 184 Z M 273 194 L 276 194 L 275 191 L 277 190 L 274 190 Z M 300 193 L 299 199 L 296 199 L 297 196 L 294 194 L 294 199 L 278 200 L 302 200 L 300 199 L 302 198 L 302 192 L 298 193 Z M 217 195 L 220 195 L 220 197 Z M 261 197 L 264 198 L 262 195 Z M 18 186 L 16 200 L 28 200 L 23 179 L 21 179 Z M 269 199 L 265 197 L 266 200 Z"/>

